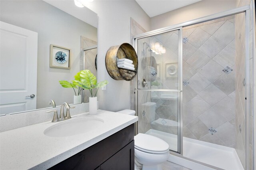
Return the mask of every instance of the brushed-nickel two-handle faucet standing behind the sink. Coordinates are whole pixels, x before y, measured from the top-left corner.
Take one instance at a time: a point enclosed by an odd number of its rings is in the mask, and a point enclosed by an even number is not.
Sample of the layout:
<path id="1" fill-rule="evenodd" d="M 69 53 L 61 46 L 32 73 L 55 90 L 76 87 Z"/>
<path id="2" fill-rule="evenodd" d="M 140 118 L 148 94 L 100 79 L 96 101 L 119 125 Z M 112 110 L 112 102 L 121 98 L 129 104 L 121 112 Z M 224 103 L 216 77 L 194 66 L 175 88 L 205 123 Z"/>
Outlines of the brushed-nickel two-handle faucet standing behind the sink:
<path id="1" fill-rule="evenodd" d="M 51 101 L 52 101 L 52 100 L 51 100 Z M 64 107 L 66 107 L 66 109 L 67 109 L 66 115 L 64 115 Z M 52 122 L 59 122 L 59 121 L 64 121 L 64 120 L 66 120 L 66 119 L 70 119 L 71 116 L 70 116 L 69 109 L 73 109 L 73 108 L 75 108 L 75 107 L 70 107 L 70 106 L 68 105 L 68 103 L 64 102 L 64 103 L 62 103 L 62 105 L 61 105 L 61 107 L 60 107 L 60 117 L 58 117 L 57 110 L 46 111 L 46 113 L 54 112 Z"/>

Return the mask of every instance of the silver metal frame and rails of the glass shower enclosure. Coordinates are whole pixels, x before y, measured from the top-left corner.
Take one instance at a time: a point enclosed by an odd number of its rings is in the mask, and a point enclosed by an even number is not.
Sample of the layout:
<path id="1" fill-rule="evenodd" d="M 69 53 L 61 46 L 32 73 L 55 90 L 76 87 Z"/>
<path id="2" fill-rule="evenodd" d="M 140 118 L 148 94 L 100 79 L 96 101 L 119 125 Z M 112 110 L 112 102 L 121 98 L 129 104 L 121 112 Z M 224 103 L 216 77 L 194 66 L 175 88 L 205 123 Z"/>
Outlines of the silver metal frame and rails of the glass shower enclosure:
<path id="1" fill-rule="evenodd" d="M 138 39 L 147 38 L 147 37 L 150 37 L 150 36 L 170 32 L 170 31 L 173 31 L 173 30 L 179 30 L 180 28 L 181 28 L 180 33 L 182 34 L 182 28 L 183 27 L 191 26 L 191 25 L 195 25 L 195 24 L 200 24 L 202 22 L 207 22 L 207 21 L 210 21 L 210 20 L 215 20 L 215 19 L 218 19 L 218 18 L 226 17 L 226 16 L 240 14 L 240 13 L 243 13 L 243 12 L 245 13 L 245 18 L 246 18 L 246 29 L 245 29 L 245 33 L 246 33 L 246 36 L 245 36 L 245 40 L 246 40 L 246 45 L 245 45 L 246 82 L 249 82 L 249 83 L 246 83 L 246 169 L 248 169 L 248 167 L 250 167 L 250 67 L 249 67 L 250 66 L 250 44 L 249 44 L 249 42 L 250 42 L 250 20 L 249 20 L 250 5 L 242 6 L 242 7 L 239 7 L 239 8 L 232 9 L 232 10 L 227 10 L 227 11 L 224 11 L 224 12 L 219 12 L 219 13 L 212 14 L 212 15 L 209 15 L 209 16 L 205 16 L 205 17 L 202 17 L 202 18 L 198 18 L 198 19 L 195 19 L 195 20 L 182 22 L 180 24 L 175 24 L 173 26 L 168 26 L 168 27 L 165 27 L 165 28 L 160 28 L 160 29 L 157 29 L 157 30 L 152 30 L 150 32 L 146 32 L 146 33 L 143 33 L 143 34 L 133 36 L 132 37 L 132 45 L 135 48 L 135 50 L 138 51 L 138 49 L 137 49 Z M 182 40 L 179 41 L 179 44 L 180 44 L 180 49 L 179 49 L 180 56 L 179 56 L 178 61 L 182 61 Z M 182 64 L 180 64 L 179 66 L 180 66 L 180 82 L 181 82 L 180 85 L 182 85 Z M 136 82 L 138 82 L 138 76 L 136 76 Z M 178 142 L 180 142 L 180 143 L 178 143 L 178 145 L 180 145 L 180 153 L 170 151 L 170 154 L 173 154 L 173 155 L 179 154 L 182 158 L 184 158 L 186 160 L 190 160 L 189 158 L 183 157 L 182 86 L 181 86 L 180 91 L 179 90 L 164 90 L 164 89 L 163 90 L 161 90 L 161 89 L 138 89 L 138 84 L 135 83 L 135 92 L 134 93 L 136 93 L 136 94 L 134 95 L 134 98 L 135 98 L 134 103 L 135 103 L 136 114 L 138 114 L 138 107 L 137 107 L 138 106 L 138 93 L 137 93 L 137 91 L 181 92 L 180 104 L 179 104 L 179 107 L 180 107 L 180 115 L 179 115 L 180 116 L 180 140 L 178 141 Z M 137 134 L 137 132 L 138 132 L 137 123 L 135 125 L 135 131 L 136 131 L 136 134 Z M 198 162 L 198 161 L 194 160 L 194 162 Z M 201 163 L 204 164 L 203 162 L 201 162 Z M 213 166 L 208 165 L 208 167 L 213 167 Z"/>

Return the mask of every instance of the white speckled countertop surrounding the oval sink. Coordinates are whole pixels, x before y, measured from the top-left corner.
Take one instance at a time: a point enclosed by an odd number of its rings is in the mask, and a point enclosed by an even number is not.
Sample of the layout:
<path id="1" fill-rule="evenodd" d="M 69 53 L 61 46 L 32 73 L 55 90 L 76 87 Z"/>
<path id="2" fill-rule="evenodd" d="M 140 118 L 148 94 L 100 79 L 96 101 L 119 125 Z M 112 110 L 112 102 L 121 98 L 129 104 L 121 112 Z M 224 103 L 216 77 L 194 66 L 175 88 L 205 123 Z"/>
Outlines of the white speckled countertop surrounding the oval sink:
<path id="1" fill-rule="evenodd" d="M 0 169 L 48 169 L 138 121 L 136 116 L 102 110 L 98 110 L 97 115 L 81 113 L 65 121 L 86 117 L 103 119 L 104 124 L 89 132 L 67 137 L 46 136 L 44 130 L 57 124 L 51 121 L 1 132 Z"/>

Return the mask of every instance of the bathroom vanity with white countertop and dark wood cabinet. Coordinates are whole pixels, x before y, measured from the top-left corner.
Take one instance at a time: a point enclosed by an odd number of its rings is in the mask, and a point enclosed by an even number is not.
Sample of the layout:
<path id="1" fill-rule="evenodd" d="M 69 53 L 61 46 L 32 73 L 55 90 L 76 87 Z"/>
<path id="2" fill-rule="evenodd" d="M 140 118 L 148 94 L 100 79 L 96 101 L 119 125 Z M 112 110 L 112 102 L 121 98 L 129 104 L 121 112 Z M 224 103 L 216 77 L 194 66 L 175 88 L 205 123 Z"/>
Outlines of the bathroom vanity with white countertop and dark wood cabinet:
<path id="1" fill-rule="evenodd" d="M 46 129 L 72 119 L 103 123 L 81 134 L 46 136 Z M 134 123 L 138 117 L 98 110 L 97 115 L 81 113 L 72 119 L 1 132 L 0 169 L 134 169 Z"/>

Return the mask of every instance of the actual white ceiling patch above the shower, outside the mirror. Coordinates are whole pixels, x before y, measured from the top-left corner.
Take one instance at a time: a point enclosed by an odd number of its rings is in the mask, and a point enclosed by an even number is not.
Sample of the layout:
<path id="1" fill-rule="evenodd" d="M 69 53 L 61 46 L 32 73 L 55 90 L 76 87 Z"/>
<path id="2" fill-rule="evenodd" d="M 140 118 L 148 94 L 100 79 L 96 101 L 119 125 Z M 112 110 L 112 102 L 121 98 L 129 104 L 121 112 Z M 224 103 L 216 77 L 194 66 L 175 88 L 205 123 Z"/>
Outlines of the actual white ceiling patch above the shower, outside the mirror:
<path id="1" fill-rule="evenodd" d="M 136 0 L 150 18 L 199 1 L 201 0 Z"/>

